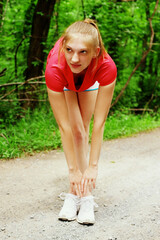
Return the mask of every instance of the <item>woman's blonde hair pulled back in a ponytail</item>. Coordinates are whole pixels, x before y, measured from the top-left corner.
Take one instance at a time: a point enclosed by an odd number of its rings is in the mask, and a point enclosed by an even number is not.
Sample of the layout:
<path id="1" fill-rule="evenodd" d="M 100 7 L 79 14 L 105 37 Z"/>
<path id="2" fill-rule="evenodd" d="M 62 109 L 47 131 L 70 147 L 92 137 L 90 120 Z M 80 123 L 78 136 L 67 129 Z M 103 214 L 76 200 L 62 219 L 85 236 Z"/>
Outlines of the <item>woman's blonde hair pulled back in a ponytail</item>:
<path id="1" fill-rule="evenodd" d="M 99 32 L 99 28 L 94 20 L 92 19 L 85 19 L 83 21 L 77 21 L 71 24 L 63 34 L 62 45 L 60 46 L 60 52 L 62 51 L 63 46 L 73 37 L 73 34 L 83 34 L 84 37 L 91 37 L 91 42 L 93 48 L 100 47 L 100 52 L 97 56 L 97 59 L 106 52 L 105 47 L 103 45 L 102 37 Z"/>

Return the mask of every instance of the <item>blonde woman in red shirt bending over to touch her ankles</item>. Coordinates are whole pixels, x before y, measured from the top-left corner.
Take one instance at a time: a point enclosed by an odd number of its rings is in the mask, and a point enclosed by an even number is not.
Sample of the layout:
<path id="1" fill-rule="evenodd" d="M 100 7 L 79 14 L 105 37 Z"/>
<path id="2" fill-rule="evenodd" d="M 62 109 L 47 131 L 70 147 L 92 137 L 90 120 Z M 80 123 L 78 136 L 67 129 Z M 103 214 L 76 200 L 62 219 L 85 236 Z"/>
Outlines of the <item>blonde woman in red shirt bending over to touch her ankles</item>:
<path id="1" fill-rule="evenodd" d="M 94 224 L 94 200 L 103 129 L 111 105 L 117 69 L 105 51 L 96 23 L 70 25 L 47 58 L 49 101 L 58 123 L 69 169 L 70 188 L 61 220 Z M 94 113 L 89 163 L 89 125 Z M 77 216 L 77 212 L 78 216 Z"/>

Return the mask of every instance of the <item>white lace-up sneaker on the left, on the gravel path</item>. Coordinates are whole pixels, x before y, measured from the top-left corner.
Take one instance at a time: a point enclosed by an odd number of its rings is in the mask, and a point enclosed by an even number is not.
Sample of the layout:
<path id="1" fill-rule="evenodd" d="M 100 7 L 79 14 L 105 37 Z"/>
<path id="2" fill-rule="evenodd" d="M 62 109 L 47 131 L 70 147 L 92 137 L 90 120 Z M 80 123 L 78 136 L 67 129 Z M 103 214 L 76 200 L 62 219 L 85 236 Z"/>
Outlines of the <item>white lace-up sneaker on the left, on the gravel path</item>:
<path id="1" fill-rule="evenodd" d="M 58 219 L 63 221 L 75 220 L 79 210 L 79 197 L 71 193 L 61 193 L 59 197 L 64 200 L 64 204 Z"/>

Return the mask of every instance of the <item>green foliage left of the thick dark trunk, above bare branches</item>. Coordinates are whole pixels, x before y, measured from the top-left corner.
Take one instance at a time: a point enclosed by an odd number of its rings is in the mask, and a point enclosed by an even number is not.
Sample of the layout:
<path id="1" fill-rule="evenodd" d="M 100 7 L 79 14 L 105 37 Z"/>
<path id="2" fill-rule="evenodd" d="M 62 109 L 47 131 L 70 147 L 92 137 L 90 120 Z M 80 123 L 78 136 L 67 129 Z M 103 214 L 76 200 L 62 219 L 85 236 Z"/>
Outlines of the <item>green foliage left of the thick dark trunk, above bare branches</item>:
<path id="1" fill-rule="evenodd" d="M 9 4 L 4 5 L 4 21 L 0 32 L 0 66 L 1 70 L 7 68 L 6 75 L 1 78 L 1 83 L 15 81 L 15 50 L 21 42 L 23 36 L 23 45 L 18 51 L 18 76 L 23 80 L 23 71 L 26 68 L 27 48 L 29 42 L 30 31 L 27 31 L 27 26 L 31 29 L 31 20 L 27 20 L 26 12 L 30 5 L 29 0 L 17 1 L 11 0 Z M 33 1 L 32 1 L 33 2 Z M 31 14 L 32 11 L 30 11 Z M 31 17 L 31 16 L 30 16 Z M 32 19 L 32 17 L 31 17 Z"/>

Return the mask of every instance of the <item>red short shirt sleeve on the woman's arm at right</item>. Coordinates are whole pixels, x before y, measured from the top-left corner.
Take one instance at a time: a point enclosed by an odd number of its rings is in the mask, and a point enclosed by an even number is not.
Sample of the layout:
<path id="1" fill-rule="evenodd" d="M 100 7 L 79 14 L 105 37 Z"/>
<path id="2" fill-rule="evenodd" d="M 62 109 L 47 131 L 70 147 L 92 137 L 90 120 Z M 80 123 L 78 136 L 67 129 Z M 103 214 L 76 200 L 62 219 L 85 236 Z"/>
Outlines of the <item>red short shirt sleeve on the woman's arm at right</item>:
<path id="1" fill-rule="evenodd" d="M 103 62 L 95 77 L 100 86 L 106 86 L 114 82 L 117 77 L 117 67 L 114 61 L 109 58 L 109 60 Z"/>

